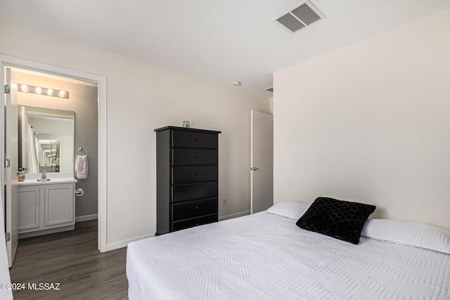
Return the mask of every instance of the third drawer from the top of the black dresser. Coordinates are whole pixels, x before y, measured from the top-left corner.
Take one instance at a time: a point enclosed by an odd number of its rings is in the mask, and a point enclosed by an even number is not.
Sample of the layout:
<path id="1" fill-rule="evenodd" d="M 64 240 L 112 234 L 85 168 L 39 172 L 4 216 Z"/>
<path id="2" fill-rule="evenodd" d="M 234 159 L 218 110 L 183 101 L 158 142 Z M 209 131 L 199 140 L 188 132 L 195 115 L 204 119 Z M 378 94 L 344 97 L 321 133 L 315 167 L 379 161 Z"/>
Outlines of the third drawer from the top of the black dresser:
<path id="1" fill-rule="evenodd" d="M 217 180 L 217 167 L 173 167 L 172 183 Z"/>

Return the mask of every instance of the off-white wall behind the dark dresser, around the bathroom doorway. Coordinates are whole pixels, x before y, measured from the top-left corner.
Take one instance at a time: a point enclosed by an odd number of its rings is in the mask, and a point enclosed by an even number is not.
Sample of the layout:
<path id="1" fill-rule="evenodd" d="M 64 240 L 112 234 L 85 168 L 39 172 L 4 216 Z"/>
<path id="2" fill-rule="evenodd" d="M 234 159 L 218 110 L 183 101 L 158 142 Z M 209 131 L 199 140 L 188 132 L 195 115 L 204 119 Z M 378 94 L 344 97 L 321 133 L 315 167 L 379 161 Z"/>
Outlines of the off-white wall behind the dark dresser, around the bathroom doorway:
<path id="1" fill-rule="evenodd" d="M 250 209 L 250 110 L 269 100 L 43 32 L 0 22 L 1 54 L 107 77 L 108 249 L 155 233 L 155 133 L 165 125 L 222 131 L 219 215 Z"/>

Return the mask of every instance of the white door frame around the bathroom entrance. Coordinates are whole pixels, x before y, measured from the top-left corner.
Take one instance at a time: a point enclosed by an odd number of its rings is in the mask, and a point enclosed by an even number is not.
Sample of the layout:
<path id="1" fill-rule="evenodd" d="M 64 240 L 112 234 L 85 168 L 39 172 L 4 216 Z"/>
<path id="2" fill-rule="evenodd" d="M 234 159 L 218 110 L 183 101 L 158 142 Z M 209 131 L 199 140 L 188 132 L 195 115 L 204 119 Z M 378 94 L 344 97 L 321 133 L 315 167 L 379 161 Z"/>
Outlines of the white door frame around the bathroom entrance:
<path id="1" fill-rule="evenodd" d="M 84 83 L 86 86 L 96 86 L 96 105 L 98 107 L 98 112 L 96 113 L 96 117 L 98 119 L 97 122 L 97 132 L 98 138 L 96 141 L 96 145 L 98 147 L 98 154 L 96 155 L 96 159 L 98 162 L 96 163 L 96 167 L 98 166 L 98 180 L 96 180 L 96 186 L 98 187 L 97 199 L 98 199 L 98 250 L 100 252 L 106 251 L 106 99 L 105 99 L 105 91 L 106 91 L 106 79 L 105 77 L 99 77 L 97 75 L 86 74 L 82 72 L 77 72 L 74 70 L 63 69 L 60 67 L 54 67 L 51 65 L 45 65 L 41 63 L 35 63 L 29 60 L 21 60 L 19 58 L 11 58 L 8 56 L 0 56 L 1 60 L 1 80 L 5 82 L 6 80 L 6 67 L 13 68 L 16 70 L 16 73 L 20 75 L 18 77 L 22 77 L 24 80 L 26 78 L 30 78 L 32 76 L 36 76 L 36 73 L 39 74 L 39 77 L 44 78 L 45 80 L 56 80 L 56 78 L 63 78 L 63 81 L 67 81 L 69 84 L 76 83 Z M 18 72 L 20 70 L 20 72 Z M 15 78 L 16 83 L 22 84 L 22 82 L 18 82 L 19 80 Z M 32 84 L 30 84 L 32 85 Z M 47 89 L 52 88 L 53 86 L 44 86 Z M 11 86 L 13 89 L 18 89 L 17 86 Z M 5 101 L 6 94 L 2 93 L 2 100 Z M 32 103 L 29 106 L 33 106 Z M 64 104 L 64 103 L 63 103 Z M 67 103 L 65 103 L 67 104 Z M 37 106 L 37 105 L 34 105 Z M 53 107 L 55 108 L 55 107 Z M 59 107 L 60 108 L 60 107 Z M 3 114 L 2 114 L 3 115 Z M 5 117 L 5 115 L 3 115 Z M 82 122 L 81 122 L 82 123 Z M 0 122 L 1 132 L 4 132 L 4 122 Z M 89 134 L 89 133 L 88 133 Z M 75 148 L 77 145 L 75 144 Z M 79 148 L 82 148 L 82 144 L 79 144 Z M 75 149 L 74 148 L 74 149 Z M 2 138 L 2 149 L 4 149 L 4 137 Z M 77 150 L 77 149 L 75 149 Z M 75 151 L 74 150 L 74 151 Z M 8 157 L 4 157 L 4 150 L 1 151 L 2 159 L 6 159 Z M 93 166 L 94 167 L 94 166 Z M 3 168 L 5 169 L 5 168 Z M 4 172 L 1 172 L 2 180 L 5 182 Z M 2 185 L 2 195 L 4 194 L 3 185 Z M 7 205 L 4 205 L 7 207 Z M 91 216 L 92 218 L 93 216 Z M 89 216 L 88 216 L 89 219 Z M 8 220 L 6 220 L 8 222 Z M 83 220 L 79 220 L 83 221 Z"/>

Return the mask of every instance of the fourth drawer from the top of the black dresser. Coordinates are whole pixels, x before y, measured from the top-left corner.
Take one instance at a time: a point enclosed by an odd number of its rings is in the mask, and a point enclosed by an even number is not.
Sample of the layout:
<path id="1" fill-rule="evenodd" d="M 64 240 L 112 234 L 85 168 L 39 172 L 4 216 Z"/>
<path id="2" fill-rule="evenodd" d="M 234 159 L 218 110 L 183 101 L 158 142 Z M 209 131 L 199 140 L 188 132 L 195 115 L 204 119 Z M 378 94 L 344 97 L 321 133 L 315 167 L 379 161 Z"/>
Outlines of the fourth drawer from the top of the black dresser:
<path id="1" fill-rule="evenodd" d="M 172 186 L 173 202 L 214 197 L 217 197 L 217 181 Z"/>

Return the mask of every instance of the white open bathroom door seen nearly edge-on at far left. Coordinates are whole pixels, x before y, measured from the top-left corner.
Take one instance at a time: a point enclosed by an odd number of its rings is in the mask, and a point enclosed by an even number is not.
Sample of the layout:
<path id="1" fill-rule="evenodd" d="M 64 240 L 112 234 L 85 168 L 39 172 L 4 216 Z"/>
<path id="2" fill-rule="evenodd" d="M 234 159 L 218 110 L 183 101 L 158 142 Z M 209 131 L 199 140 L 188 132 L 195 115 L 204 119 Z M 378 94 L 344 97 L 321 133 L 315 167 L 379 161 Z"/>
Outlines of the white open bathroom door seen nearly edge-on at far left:
<path id="1" fill-rule="evenodd" d="M 11 69 L 5 68 L 5 83 L 9 92 L 5 93 L 4 109 L 4 158 L 8 164 L 4 164 L 4 195 L 5 195 L 5 229 L 6 229 L 6 252 L 8 254 L 8 265 L 13 266 L 15 250 L 18 247 L 18 106 L 17 88 Z"/>

